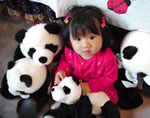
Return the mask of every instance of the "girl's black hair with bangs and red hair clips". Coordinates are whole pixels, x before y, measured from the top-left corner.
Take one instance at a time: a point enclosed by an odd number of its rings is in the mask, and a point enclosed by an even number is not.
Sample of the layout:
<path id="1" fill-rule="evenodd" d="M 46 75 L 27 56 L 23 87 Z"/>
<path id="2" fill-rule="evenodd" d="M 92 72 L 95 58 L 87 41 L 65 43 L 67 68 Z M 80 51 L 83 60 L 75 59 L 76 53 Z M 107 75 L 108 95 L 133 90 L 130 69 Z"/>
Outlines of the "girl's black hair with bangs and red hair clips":
<path id="1" fill-rule="evenodd" d="M 106 26 L 101 26 L 103 18 L 103 13 L 95 6 L 73 6 L 68 11 L 63 25 L 64 44 L 71 48 L 68 43 L 70 42 L 70 33 L 74 38 L 77 38 L 81 34 L 84 36 L 86 30 L 89 30 L 94 34 L 100 34 L 101 32 L 100 35 L 103 37 L 102 50 L 105 50 L 109 45 L 111 34 Z M 79 31 L 81 31 L 80 34 Z"/>

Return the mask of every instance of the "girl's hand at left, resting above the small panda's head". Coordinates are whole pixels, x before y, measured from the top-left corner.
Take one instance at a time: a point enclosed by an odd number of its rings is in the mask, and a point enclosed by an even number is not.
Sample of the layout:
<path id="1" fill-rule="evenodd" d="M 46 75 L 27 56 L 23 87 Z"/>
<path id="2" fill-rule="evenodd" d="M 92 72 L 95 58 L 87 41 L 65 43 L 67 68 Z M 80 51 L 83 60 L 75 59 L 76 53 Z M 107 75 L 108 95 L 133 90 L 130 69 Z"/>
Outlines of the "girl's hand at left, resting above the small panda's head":
<path id="1" fill-rule="evenodd" d="M 58 85 L 60 83 L 61 80 L 63 80 L 66 77 L 66 72 L 65 71 L 59 71 L 56 73 L 55 75 L 55 81 L 54 81 L 54 85 Z"/>

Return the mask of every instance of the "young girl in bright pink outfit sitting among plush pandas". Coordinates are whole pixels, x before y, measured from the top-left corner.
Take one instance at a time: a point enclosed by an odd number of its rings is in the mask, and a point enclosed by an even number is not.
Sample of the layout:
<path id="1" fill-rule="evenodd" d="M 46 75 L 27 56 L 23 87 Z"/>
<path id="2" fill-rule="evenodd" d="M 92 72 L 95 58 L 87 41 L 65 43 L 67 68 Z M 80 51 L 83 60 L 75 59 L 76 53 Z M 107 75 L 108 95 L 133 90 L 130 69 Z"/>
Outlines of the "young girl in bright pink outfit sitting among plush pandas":
<path id="1" fill-rule="evenodd" d="M 56 70 L 54 85 L 73 75 L 89 85 L 91 92 L 105 92 L 116 104 L 118 65 L 108 48 L 110 34 L 100 9 L 94 6 L 74 6 L 64 20 L 64 53 Z"/>

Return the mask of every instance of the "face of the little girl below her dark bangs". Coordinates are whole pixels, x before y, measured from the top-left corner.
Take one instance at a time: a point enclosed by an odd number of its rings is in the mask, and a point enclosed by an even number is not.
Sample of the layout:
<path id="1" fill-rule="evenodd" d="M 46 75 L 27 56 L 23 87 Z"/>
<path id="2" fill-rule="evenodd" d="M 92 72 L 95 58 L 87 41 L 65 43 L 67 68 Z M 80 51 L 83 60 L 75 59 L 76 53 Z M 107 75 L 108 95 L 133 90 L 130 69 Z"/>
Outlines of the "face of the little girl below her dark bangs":
<path id="1" fill-rule="evenodd" d="M 86 31 L 85 36 L 80 35 L 78 38 L 73 38 L 70 33 L 73 50 L 83 59 L 91 58 L 102 48 L 103 38 L 100 34 L 93 34 L 90 31 Z"/>

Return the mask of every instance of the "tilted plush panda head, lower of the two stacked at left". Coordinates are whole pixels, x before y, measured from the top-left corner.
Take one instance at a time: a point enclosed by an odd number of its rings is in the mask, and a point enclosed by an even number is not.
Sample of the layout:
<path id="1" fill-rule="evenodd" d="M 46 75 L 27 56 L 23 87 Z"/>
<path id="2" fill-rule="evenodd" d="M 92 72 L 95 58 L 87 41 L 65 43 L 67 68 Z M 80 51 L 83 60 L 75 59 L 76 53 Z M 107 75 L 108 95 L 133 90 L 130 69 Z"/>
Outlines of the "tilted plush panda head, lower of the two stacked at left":
<path id="1" fill-rule="evenodd" d="M 47 77 L 47 69 L 31 58 L 22 58 L 8 63 L 6 79 L 8 91 L 14 96 L 29 98 L 38 91 Z"/>

